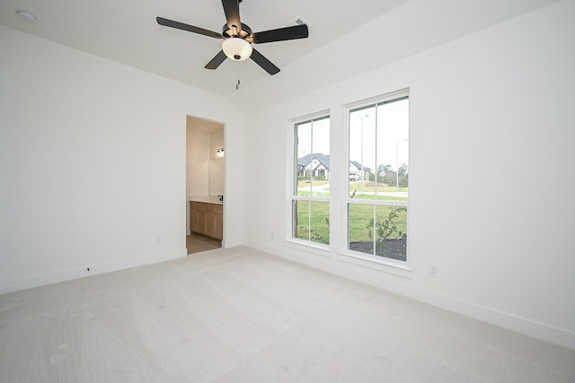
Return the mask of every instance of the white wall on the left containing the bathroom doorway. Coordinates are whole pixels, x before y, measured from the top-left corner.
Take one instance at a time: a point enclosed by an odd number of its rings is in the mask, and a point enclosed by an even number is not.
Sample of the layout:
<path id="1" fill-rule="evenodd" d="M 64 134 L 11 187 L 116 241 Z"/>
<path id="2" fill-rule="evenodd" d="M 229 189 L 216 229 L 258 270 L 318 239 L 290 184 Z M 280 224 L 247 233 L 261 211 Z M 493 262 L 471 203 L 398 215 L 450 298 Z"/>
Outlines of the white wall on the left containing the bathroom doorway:
<path id="1" fill-rule="evenodd" d="M 237 184 L 237 110 L 2 26 L 0 46 L 0 293 L 184 257 L 186 116 L 226 124 Z M 241 244 L 241 188 L 227 195 L 227 243 Z"/>

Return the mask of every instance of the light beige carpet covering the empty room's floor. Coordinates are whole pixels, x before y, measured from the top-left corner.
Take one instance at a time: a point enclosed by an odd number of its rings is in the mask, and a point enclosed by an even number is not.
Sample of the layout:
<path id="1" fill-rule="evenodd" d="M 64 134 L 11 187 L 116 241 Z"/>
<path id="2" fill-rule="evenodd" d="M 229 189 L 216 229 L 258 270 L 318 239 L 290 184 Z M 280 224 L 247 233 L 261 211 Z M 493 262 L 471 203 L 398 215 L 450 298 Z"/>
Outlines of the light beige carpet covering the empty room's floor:
<path id="1" fill-rule="evenodd" d="M 575 351 L 251 248 L 0 295 L 2 382 L 575 382 Z"/>

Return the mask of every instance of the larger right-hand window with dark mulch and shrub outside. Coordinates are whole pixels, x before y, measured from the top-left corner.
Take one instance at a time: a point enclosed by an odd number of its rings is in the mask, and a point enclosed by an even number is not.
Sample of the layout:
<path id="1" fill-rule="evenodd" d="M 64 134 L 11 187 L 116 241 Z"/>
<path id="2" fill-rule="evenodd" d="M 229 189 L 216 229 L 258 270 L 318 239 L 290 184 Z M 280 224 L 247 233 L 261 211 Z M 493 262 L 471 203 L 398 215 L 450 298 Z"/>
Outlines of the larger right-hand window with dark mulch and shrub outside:
<path id="1" fill-rule="evenodd" d="M 405 262 L 408 93 L 395 93 L 348 110 L 348 249 Z"/>

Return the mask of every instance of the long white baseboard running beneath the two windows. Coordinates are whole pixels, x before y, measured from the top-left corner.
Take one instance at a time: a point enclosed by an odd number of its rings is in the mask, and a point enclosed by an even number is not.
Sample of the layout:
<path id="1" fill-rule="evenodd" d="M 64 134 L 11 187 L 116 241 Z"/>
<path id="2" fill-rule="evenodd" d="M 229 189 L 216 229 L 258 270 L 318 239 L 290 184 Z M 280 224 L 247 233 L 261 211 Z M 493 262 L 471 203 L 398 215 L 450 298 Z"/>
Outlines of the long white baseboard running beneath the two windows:
<path id="1" fill-rule="evenodd" d="M 438 294 L 437 292 L 410 286 L 404 282 L 398 283 L 393 279 L 381 278 L 380 275 L 371 271 L 371 269 L 367 271 L 365 267 L 335 262 L 331 258 L 318 257 L 311 253 L 305 254 L 304 252 L 290 248 L 270 247 L 252 241 L 246 241 L 244 245 L 270 253 L 274 256 L 283 257 L 314 267 L 330 274 L 336 274 L 354 281 L 367 283 L 387 292 L 403 295 L 412 300 L 419 300 L 441 309 L 447 309 L 464 315 L 465 317 L 508 328 L 520 334 L 529 335 L 545 342 L 559 344 L 575 350 L 575 333 L 562 328 L 549 326 L 528 318 L 521 318 L 514 314 L 484 307 L 473 302 L 457 300 L 447 295 Z"/>

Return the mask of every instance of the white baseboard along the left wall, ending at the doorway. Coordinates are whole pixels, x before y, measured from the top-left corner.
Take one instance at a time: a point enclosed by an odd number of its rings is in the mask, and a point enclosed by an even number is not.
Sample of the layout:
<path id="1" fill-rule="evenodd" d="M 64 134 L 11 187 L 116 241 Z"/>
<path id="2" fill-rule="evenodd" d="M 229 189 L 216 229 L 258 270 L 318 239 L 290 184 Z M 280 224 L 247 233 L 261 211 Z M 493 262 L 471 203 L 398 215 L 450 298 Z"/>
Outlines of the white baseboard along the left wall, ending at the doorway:
<path id="1" fill-rule="evenodd" d="M 91 265 L 89 271 L 86 267 L 76 267 L 57 273 L 34 275 L 0 283 L 0 294 L 4 294 L 6 292 L 17 292 L 20 290 L 31 289 L 32 287 L 39 287 L 52 283 L 71 281 L 73 279 L 83 278 L 86 276 L 110 273 L 112 271 L 123 270 L 130 267 L 155 264 L 157 262 L 163 262 L 187 256 L 187 249 L 182 248 L 163 253 L 149 254 L 143 257 L 123 259 L 117 262 Z"/>

